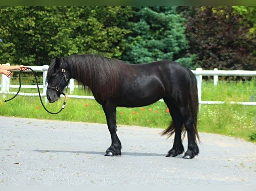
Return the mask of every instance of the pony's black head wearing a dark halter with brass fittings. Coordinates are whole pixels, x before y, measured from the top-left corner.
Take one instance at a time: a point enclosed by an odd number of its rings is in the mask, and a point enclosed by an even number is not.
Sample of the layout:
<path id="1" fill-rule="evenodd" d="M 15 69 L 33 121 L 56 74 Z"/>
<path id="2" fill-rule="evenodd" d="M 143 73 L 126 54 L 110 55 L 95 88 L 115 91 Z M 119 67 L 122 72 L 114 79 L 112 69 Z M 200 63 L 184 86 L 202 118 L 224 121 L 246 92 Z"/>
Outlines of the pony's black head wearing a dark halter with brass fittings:
<path id="1" fill-rule="evenodd" d="M 52 59 L 46 75 L 48 82 L 46 96 L 50 103 L 57 101 L 60 94 L 65 95 L 62 91 L 68 86 L 69 80 L 69 71 L 66 71 L 60 58 Z"/>

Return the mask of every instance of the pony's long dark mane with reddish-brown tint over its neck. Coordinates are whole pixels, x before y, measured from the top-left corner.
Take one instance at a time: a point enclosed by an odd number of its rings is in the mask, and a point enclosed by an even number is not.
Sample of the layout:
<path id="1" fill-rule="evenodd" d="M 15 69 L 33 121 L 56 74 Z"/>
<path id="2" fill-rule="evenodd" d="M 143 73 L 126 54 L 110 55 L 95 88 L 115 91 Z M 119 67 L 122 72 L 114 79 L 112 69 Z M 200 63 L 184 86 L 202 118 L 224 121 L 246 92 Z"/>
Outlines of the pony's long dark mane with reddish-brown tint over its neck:
<path id="1" fill-rule="evenodd" d="M 116 97 L 124 80 L 134 74 L 131 64 L 98 55 L 72 55 L 61 57 L 61 62 L 79 84 L 88 86 L 95 98 Z"/>

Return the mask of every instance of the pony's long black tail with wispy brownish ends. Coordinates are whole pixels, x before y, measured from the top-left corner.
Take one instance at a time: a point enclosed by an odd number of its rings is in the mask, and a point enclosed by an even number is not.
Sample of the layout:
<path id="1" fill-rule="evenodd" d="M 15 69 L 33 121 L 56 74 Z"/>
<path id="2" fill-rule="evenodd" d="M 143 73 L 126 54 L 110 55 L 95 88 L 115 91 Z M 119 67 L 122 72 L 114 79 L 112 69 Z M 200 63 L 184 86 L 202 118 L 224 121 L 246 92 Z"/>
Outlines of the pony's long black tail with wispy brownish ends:
<path id="1" fill-rule="evenodd" d="M 199 134 L 197 131 L 197 115 L 198 115 L 198 108 L 199 108 L 197 79 L 190 69 L 187 68 L 187 70 L 191 79 L 191 88 L 190 88 L 190 96 L 189 96 L 189 112 L 193 119 L 193 131 L 194 131 L 195 141 L 197 141 L 198 139 L 198 141 L 201 143 Z M 185 131 L 186 131 L 184 123 L 182 124 L 181 131 L 183 133 L 183 137 L 182 137 L 182 140 L 183 140 L 185 136 Z M 174 132 L 175 132 L 175 127 L 172 121 L 169 127 L 166 128 L 161 133 L 161 135 L 168 134 L 167 138 L 169 138 Z"/>

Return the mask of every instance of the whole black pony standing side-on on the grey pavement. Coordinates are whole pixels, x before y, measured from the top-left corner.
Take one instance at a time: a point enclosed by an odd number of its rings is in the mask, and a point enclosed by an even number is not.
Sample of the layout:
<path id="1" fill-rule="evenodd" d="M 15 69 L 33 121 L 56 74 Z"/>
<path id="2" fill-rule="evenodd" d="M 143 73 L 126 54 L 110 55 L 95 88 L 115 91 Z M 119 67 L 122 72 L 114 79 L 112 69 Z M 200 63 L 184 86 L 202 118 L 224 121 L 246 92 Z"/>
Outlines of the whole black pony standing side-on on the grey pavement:
<path id="1" fill-rule="evenodd" d="M 121 142 L 116 134 L 116 107 L 140 107 L 163 98 L 172 122 L 162 135 L 175 133 L 173 147 L 166 156 L 184 152 L 181 133 L 187 132 L 188 146 L 183 158 L 198 155 L 197 114 L 198 90 L 195 75 L 170 60 L 146 64 L 127 64 L 121 60 L 96 55 L 72 55 L 53 59 L 46 80 L 47 99 L 58 100 L 73 78 L 92 91 L 102 105 L 111 135 L 111 146 L 105 156 L 121 155 Z"/>

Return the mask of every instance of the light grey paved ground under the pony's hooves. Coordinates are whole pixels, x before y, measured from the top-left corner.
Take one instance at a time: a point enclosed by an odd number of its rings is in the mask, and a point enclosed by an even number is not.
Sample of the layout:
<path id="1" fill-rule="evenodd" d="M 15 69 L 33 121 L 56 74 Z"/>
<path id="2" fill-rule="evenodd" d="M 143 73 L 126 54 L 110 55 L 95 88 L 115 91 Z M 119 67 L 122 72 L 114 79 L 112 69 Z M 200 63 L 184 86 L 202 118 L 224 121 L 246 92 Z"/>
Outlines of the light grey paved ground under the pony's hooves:
<path id="1" fill-rule="evenodd" d="M 170 158 L 162 129 L 118 126 L 122 156 L 106 157 L 106 124 L 2 116 L 0 124 L 0 185 L 256 185 L 256 145 L 242 139 L 200 133 L 197 157 Z"/>

